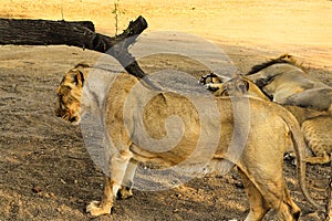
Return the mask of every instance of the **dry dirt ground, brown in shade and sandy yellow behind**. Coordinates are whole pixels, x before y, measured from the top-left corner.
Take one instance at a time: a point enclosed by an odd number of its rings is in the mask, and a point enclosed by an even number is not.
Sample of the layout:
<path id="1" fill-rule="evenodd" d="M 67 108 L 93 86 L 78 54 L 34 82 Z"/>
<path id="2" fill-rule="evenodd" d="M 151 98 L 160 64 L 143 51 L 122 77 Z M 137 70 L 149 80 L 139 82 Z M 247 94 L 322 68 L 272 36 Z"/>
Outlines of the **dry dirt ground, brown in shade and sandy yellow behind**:
<path id="1" fill-rule="evenodd" d="M 149 31 L 183 31 L 208 39 L 246 72 L 253 64 L 291 53 L 309 72 L 332 85 L 332 2 L 307 1 L 147 1 L 120 2 L 118 27 L 144 15 Z M 113 35 L 113 1 L 0 0 L 2 18 L 92 20 Z M 1 34 L 1 33 L 0 33 Z M 91 160 L 80 126 L 54 116 L 55 88 L 77 62 L 94 64 L 98 53 L 68 46 L 0 46 L 0 220 L 91 220 L 85 203 L 102 194 L 103 175 Z M 178 69 L 204 73 L 190 60 L 153 56 L 146 71 Z M 197 72 L 199 71 L 199 72 Z M 267 157 L 268 158 L 268 157 Z M 308 166 L 309 189 L 324 203 L 329 166 Z M 309 217 L 294 166 L 284 162 L 294 201 Z M 248 201 L 236 170 L 194 179 L 157 192 L 134 191 L 112 215 L 93 220 L 243 220 Z M 270 212 L 266 220 L 276 220 Z"/>

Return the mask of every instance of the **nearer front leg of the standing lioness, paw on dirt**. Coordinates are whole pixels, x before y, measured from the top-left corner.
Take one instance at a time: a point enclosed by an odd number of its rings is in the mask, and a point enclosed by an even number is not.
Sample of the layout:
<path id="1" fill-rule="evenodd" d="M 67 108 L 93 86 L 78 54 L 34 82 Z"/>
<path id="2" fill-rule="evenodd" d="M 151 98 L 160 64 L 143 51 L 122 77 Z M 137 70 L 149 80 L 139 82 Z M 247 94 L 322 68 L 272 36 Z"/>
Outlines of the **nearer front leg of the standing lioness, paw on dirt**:
<path id="1" fill-rule="evenodd" d="M 128 161 L 132 157 L 129 151 L 120 151 L 111 158 L 111 177 L 105 177 L 105 187 L 102 201 L 92 201 L 86 207 L 86 212 L 93 217 L 110 214 L 115 197 L 121 188 Z"/>

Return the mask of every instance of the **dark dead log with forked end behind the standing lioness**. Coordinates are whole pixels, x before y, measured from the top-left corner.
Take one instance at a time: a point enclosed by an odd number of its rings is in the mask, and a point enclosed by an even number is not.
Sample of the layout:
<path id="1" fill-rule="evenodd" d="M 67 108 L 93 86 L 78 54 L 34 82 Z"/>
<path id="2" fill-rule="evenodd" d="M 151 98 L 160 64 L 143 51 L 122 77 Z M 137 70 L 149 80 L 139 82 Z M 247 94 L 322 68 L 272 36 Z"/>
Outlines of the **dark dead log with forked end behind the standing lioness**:
<path id="1" fill-rule="evenodd" d="M 146 77 L 128 46 L 147 28 L 143 17 L 132 21 L 120 35 L 96 33 L 90 21 L 68 22 L 49 20 L 0 19 L 0 44 L 79 46 L 114 56 L 132 75 L 143 78 L 151 87 L 158 88 Z"/>

